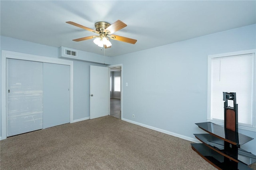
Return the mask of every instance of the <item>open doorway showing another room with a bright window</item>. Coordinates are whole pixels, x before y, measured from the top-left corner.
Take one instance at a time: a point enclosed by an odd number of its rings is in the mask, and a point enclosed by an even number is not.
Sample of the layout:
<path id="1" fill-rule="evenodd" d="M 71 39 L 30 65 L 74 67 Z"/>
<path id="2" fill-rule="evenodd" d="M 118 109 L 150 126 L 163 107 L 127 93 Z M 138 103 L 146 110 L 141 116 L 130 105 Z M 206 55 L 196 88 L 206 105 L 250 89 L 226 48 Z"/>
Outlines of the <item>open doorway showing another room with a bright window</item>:
<path id="1" fill-rule="evenodd" d="M 122 118 L 122 65 L 110 67 L 110 116 Z"/>

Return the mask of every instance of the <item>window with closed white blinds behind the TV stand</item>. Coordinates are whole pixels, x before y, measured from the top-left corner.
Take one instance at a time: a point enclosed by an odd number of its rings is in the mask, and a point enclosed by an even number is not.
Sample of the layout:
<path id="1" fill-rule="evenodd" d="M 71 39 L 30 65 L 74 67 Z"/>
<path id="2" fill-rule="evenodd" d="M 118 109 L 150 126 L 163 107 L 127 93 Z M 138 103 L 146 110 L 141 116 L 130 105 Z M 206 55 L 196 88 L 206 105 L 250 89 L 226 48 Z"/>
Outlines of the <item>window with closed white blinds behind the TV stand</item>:
<path id="1" fill-rule="evenodd" d="M 235 92 L 239 128 L 256 131 L 255 51 L 250 52 L 208 56 L 209 121 L 223 125 L 223 92 Z"/>

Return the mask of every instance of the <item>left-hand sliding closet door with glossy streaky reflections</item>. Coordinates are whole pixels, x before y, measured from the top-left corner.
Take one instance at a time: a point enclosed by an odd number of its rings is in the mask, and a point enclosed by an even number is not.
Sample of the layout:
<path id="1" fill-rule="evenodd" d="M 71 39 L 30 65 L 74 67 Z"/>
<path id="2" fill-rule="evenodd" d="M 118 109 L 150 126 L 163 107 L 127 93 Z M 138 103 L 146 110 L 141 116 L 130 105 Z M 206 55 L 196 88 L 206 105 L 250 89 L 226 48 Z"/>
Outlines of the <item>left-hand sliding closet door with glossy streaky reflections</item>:
<path id="1" fill-rule="evenodd" d="M 43 63 L 7 59 L 7 136 L 42 129 Z"/>

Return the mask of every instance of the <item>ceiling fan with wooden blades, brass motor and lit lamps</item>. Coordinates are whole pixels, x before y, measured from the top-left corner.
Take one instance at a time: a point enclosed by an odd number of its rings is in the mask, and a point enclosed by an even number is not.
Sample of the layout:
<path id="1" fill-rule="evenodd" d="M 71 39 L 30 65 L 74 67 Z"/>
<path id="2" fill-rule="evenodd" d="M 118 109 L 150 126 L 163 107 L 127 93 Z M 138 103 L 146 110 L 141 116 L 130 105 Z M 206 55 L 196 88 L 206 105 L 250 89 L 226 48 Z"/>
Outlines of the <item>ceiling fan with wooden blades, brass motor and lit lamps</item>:
<path id="1" fill-rule="evenodd" d="M 80 27 L 84 30 L 99 34 L 98 36 L 89 36 L 89 37 L 74 39 L 73 41 L 75 42 L 80 42 L 80 41 L 90 40 L 92 38 L 95 38 L 94 43 L 96 43 L 100 47 L 104 46 L 105 48 L 109 48 L 112 45 L 108 38 L 121 41 L 121 42 L 132 43 L 132 44 L 135 44 L 137 42 L 137 40 L 134 40 L 131 38 L 113 35 L 114 32 L 121 30 L 122 28 L 127 26 L 126 24 L 124 24 L 124 22 L 120 20 L 117 20 L 113 24 L 109 24 L 107 22 L 96 22 L 94 24 L 96 30 L 92 30 L 91 28 L 82 26 L 80 24 L 76 24 L 75 22 L 72 22 L 72 21 L 68 21 L 66 23 L 71 24 L 73 26 Z"/>

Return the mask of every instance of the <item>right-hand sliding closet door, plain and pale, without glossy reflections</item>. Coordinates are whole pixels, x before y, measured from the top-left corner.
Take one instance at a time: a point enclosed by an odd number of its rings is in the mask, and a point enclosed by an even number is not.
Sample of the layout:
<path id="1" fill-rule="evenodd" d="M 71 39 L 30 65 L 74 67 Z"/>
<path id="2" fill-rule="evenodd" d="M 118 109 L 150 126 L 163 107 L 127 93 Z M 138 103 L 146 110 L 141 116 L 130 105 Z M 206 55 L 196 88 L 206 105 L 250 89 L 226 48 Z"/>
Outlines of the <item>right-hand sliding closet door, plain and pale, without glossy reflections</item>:
<path id="1" fill-rule="evenodd" d="M 70 65 L 44 63 L 43 128 L 70 123 Z"/>

